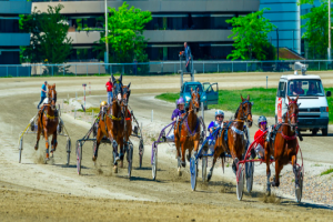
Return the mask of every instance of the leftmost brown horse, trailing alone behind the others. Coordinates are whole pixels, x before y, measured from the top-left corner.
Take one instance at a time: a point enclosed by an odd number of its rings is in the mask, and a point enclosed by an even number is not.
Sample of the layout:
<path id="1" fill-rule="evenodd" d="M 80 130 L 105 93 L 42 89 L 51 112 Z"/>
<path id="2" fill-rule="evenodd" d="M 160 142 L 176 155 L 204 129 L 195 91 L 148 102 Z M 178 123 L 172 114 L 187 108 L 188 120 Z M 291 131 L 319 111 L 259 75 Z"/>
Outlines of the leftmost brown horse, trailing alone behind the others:
<path id="1" fill-rule="evenodd" d="M 53 157 L 53 152 L 57 149 L 57 128 L 59 123 L 59 117 L 58 111 L 56 109 L 56 102 L 57 102 L 57 91 L 56 91 L 56 84 L 48 85 L 48 103 L 43 104 L 41 109 L 38 112 L 38 120 L 37 120 L 37 142 L 34 145 L 34 150 L 38 150 L 39 147 L 39 140 L 40 134 L 46 139 L 46 145 L 47 145 L 47 160 L 49 160 L 49 137 L 52 135 L 52 150 L 51 155 Z"/>

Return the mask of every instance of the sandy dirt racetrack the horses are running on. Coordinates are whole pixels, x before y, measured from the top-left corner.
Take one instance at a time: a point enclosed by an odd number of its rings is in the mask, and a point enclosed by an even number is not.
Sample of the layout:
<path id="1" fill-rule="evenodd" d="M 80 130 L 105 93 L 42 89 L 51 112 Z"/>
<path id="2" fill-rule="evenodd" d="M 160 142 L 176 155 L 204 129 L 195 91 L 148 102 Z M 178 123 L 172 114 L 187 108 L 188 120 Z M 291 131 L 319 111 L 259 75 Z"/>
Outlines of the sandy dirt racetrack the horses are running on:
<path id="1" fill-rule="evenodd" d="M 199 81 L 218 81 L 220 89 L 264 87 L 266 73 L 200 74 Z M 270 87 L 276 87 L 280 73 L 269 74 Z M 333 77 L 322 73 L 324 87 L 333 85 Z M 18 163 L 18 135 L 36 114 L 41 78 L 0 80 L 0 220 L 1 221 L 332 221 L 332 206 L 315 203 L 296 204 L 294 199 L 264 200 L 260 191 L 238 201 L 235 185 L 215 175 L 209 184 L 199 182 L 190 189 L 189 167 L 176 175 L 174 157 L 159 153 L 158 180 L 151 180 L 150 147 L 145 145 L 143 168 L 134 155 L 132 180 L 111 171 L 111 148 L 101 145 L 98 164 L 91 161 L 92 144 L 83 147 L 83 169 L 75 170 L 74 142 L 90 123 L 62 114 L 72 140 L 70 167 L 65 167 L 65 139 L 58 139 L 53 161 L 41 164 L 44 140 L 34 151 L 36 135 L 24 135 L 22 163 Z M 105 77 L 47 78 L 57 83 L 58 100 L 82 95 L 82 83 L 92 83 L 92 94 L 105 94 Z M 179 90 L 178 77 L 125 77 L 133 94 Z M 145 105 L 142 104 L 144 108 Z M 150 112 L 152 108 L 147 107 Z M 141 113 L 138 113 L 139 117 Z M 142 114 L 143 115 L 143 114 Z M 135 142 L 135 141 L 134 141 Z M 134 143 L 135 145 L 135 143 Z M 327 144 L 330 147 L 330 144 Z M 135 147 L 137 148 L 137 147 Z M 134 151 L 135 151 L 134 148 Z M 292 184 L 291 184 L 292 185 Z M 278 203 L 271 203 L 278 200 Z M 266 203 L 269 202 L 269 203 Z M 333 203 L 332 203 L 333 204 Z"/>

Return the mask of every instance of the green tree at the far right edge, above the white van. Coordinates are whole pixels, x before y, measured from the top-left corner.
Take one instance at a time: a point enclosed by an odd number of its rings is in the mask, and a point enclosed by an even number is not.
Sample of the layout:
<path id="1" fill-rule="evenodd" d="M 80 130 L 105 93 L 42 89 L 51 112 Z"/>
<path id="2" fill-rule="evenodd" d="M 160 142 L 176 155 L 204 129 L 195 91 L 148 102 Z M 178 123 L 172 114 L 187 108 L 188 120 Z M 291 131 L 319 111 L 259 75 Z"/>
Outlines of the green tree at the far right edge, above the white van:
<path id="1" fill-rule="evenodd" d="M 329 48 L 329 4 L 322 1 L 320 7 L 311 8 L 311 12 L 301 17 L 306 23 L 301 28 L 305 28 L 302 38 L 309 46 L 307 58 L 325 59 Z"/>

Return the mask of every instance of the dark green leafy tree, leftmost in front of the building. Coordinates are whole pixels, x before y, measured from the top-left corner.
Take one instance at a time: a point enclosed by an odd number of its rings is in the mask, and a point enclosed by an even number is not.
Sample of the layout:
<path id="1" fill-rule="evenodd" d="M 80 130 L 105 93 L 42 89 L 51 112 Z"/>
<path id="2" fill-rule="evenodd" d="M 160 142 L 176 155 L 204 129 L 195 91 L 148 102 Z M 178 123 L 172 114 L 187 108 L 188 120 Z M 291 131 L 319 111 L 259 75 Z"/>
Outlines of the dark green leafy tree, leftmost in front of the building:
<path id="1" fill-rule="evenodd" d="M 63 63 L 68 60 L 72 39 L 68 38 L 67 18 L 60 14 L 62 4 L 49 6 L 47 12 L 34 7 L 31 14 L 21 16 L 20 28 L 31 33 L 30 46 L 21 48 L 21 61 Z"/>

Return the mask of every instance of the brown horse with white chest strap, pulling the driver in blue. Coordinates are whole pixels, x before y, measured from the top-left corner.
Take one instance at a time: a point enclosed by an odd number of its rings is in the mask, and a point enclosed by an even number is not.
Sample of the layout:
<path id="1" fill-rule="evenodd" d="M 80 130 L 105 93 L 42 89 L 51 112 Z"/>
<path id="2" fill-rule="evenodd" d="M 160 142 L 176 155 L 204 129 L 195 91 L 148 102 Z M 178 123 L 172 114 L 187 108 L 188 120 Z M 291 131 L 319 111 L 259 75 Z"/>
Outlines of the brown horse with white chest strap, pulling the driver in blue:
<path id="1" fill-rule="evenodd" d="M 214 165 L 216 163 L 216 159 L 222 157 L 223 153 L 231 154 L 233 159 L 232 170 L 236 172 L 236 163 L 243 159 L 243 153 L 246 149 L 246 140 L 244 138 L 244 123 L 248 123 L 248 127 L 252 127 L 252 103 L 250 102 L 250 95 L 246 99 L 243 99 L 241 95 L 242 102 L 235 113 L 235 120 L 230 122 L 224 122 L 224 128 L 220 130 L 218 134 L 215 147 L 214 147 L 214 157 L 213 157 L 213 165 L 210 169 L 208 174 L 208 181 L 211 180 L 213 175 Z M 228 130 L 228 139 L 224 139 L 224 132 Z M 222 167 L 224 168 L 224 162 L 222 158 Z"/>

